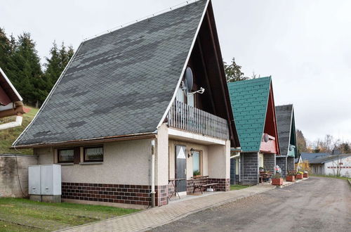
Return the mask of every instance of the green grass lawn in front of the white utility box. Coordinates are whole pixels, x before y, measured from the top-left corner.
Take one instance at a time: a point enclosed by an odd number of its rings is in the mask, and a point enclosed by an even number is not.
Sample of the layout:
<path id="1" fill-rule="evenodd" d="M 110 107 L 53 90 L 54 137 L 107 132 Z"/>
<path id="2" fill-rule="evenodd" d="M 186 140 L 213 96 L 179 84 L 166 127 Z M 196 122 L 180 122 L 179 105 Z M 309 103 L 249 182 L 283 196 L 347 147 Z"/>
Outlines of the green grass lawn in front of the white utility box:
<path id="1" fill-rule="evenodd" d="M 0 198 L 0 231 L 55 231 L 138 211 L 100 205 Z"/>

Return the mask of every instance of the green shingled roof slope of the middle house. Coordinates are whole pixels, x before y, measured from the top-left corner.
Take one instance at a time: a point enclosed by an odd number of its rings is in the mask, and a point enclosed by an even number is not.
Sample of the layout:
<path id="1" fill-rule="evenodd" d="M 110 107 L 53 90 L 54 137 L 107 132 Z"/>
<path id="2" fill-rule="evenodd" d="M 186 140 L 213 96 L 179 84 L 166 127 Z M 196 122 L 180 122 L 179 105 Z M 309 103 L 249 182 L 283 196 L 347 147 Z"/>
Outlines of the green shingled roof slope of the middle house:
<path id="1" fill-rule="evenodd" d="M 228 83 L 230 102 L 241 149 L 260 150 L 271 77 Z"/>

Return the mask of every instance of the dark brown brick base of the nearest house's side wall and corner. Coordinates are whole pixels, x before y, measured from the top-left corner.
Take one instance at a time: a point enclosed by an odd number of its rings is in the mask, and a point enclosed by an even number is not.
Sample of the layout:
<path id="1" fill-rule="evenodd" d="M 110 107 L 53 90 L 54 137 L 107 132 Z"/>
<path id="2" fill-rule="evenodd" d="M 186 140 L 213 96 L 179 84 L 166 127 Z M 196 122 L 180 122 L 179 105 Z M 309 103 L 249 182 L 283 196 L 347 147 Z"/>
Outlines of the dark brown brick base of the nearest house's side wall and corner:
<path id="1" fill-rule="evenodd" d="M 131 205 L 151 205 L 151 186 L 110 183 L 62 182 L 62 198 L 112 202 Z M 168 186 L 155 186 L 155 204 L 168 204 Z"/>

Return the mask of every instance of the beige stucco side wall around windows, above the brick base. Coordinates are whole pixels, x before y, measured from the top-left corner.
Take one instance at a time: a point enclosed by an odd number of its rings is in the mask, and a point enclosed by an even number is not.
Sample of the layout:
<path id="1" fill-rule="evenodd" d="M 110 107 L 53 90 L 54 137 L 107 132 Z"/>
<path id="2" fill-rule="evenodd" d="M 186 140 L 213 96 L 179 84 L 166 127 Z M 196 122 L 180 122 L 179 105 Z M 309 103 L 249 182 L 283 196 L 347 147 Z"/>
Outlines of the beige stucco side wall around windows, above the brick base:
<path id="1" fill-rule="evenodd" d="M 95 165 L 62 165 L 62 182 L 150 184 L 151 139 L 103 144 L 104 161 Z M 39 164 L 52 164 L 54 148 L 37 148 Z"/>

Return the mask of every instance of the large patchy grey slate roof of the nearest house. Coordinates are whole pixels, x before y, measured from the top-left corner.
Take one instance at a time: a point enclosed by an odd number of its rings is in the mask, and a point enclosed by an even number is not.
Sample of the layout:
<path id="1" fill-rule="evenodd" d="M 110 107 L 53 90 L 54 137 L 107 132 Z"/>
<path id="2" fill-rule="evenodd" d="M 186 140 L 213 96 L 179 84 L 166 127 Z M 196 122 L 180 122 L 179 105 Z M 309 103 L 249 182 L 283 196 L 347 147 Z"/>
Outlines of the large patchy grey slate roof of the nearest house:
<path id="1" fill-rule="evenodd" d="M 197 1 L 84 41 L 13 146 L 155 131 L 205 7 Z"/>

